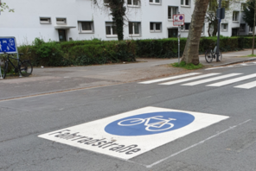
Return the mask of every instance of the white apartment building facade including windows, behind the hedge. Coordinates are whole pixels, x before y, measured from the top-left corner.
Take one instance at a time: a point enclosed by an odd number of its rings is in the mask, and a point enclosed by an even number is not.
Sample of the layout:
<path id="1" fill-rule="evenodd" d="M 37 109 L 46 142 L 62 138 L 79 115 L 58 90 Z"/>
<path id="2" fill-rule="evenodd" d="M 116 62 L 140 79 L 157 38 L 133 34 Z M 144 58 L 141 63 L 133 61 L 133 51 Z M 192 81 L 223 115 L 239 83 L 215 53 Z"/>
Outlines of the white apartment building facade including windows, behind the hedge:
<path id="1" fill-rule="evenodd" d="M 36 37 L 44 41 L 118 40 L 115 23 L 102 0 L 99 7 L 92 0 L 9 0 L 14 13 L 2 12 L 0 36 L 15 36 L 19 45 L 31 44 Z M 242 20 L 243 4 L 231 4 L 221 21 L 221 35 L 248 35 L 253 31 Z M 173 15 L 184 14 L 181 36 L 187 37 L 195 8 L 194 0 L 127 0 L 124 39 L 159 39 L 177 37 Z M 208 36 L 207 22 L 202 36 Z"/>

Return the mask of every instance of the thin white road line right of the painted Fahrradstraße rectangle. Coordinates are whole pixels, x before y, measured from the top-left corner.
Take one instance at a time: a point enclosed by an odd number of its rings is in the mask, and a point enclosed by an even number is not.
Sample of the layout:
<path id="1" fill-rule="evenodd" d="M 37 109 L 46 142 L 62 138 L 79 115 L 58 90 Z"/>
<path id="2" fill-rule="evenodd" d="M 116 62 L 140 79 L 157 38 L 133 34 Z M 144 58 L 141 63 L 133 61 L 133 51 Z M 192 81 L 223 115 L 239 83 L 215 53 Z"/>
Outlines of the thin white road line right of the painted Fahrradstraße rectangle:
<path id="1" fill-rule="evenodd" d="M 146 168 L 152 168 L 153 166 L 155 166 L 155 165 L 157 165 L 157 164 L 159 164 L 159 163 L 161 163 L 161 162 L 163 162 L 163 161 L 166 161 L 166 160 L 170 159 L 171 157 L 173 157 L 173 156 L 175 156 L 175 155 L 179 155 L 179 154 L 181 154 L 182 152 L 187 151 L 187 150 L 189 150 L 189 149 L 192 149 L 192 148 L 194 148 L 194 147 L 196 147 L 196 146 L 198 146 L 198 145 L 200 145 L 200 144 L 202 144 L 202 143 L 204 143 L 204 142 L 206 142 L 206 141 L 208 141 L 208 140 L 210 140 L 210 139 L 212 139 L 212 138 L 214 138 L 214 137 L 216 137 L 216 136 L 220 136 L 221 134 L 227 132 L 228 130 L 234 130 L 234 128 L 236 128 L 236 127 L 238 127 L 238 126 L 240 126 L 240 125 L 242 125 L 242 124 L 244 124 L 244 123 L 247 123 L 247 122 L 249 122 L 249 121 L 251 121 L 251 119 L 246 120 L 246 121 L 243 122 L 243 123 L 239 123 L 239 124 L 237 124 L 237 125 L 234 125 L 234 126 L 232 126 L 232 127 L 229 127 L 229 129 L 227 129 L 227 130 L 222 130 L 221 132 L 215 134 L 214 136 L 209 136 L 208 138 L 206 138 L 205 140 L 202 140 L 201 142 L 195 143 L 194 145 L 191 145 L 190 147 L 188 147 L 188 148 L 186 148 L 186 149 L 182 149 L 182 150 L 176 152 L 175 154 L 172 154 L 172 155 L 170 155 L 170 156 L 168 156 L 168 157 L 166 157 L 166 158 L 163 158 L 163 159 L 160 160 L 160 161 L 156 161 L 156 162 L 154 162 L 154 163 L 152 163 L 152 164 L 150 164 L 150 165 L 146 165 L 145 167 L 146 167 Z M 138 163 L 138 164 L 139 164 L 139 163 Z M 140 165 L 142 165 L 142 164 L 140 164 Z M 144 165 L 143 165 L 143 166 L 144 166 Z"/>

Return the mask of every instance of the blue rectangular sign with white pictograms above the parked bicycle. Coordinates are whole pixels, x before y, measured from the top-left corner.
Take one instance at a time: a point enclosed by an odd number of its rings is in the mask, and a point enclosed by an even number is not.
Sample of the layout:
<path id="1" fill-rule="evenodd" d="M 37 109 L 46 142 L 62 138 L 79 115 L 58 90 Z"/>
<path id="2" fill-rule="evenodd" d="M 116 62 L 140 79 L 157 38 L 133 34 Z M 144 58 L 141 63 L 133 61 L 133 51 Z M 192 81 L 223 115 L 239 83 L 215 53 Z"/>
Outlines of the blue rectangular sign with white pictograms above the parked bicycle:
<path id="1" fill-rule="evenodd" d="M 0 37 L 0 54 L 16 54 L 16 38 L 15 37 Z"/>

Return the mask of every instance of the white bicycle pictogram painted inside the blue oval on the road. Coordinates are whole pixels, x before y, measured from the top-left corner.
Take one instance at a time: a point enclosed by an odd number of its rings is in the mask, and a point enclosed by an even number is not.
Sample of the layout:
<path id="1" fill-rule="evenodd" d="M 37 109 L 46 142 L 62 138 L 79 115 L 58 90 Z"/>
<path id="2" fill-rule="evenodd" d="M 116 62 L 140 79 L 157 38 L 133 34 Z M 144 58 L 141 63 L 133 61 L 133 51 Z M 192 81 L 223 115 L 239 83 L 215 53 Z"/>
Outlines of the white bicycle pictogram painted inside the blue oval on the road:
<path id="1" fill-rule="evenodd" d="M 169 130 L 172 127 L 174 127 L 174 124 L 169 123 L 169 122 L 175 121 L 176 120 L 175 118 L 164 119 L 161 117 L 163 117 L 163 116 L 155 116 L 155 117 L 148 117 L 148 118 L 130 118 L 130 119 L 125 119 L 125 120 L 120 121 L 118 123 L 118 125 L 133 126 L 136 124 L 144 123 L 145 130 L 148 130 L 148 131 Z M 151 120 L 157 120 L 157 121 L 152 123 L 152 122 L 150 122 Z M 155 130 L 154 130 L 154 128 L 155 128 Z"/>

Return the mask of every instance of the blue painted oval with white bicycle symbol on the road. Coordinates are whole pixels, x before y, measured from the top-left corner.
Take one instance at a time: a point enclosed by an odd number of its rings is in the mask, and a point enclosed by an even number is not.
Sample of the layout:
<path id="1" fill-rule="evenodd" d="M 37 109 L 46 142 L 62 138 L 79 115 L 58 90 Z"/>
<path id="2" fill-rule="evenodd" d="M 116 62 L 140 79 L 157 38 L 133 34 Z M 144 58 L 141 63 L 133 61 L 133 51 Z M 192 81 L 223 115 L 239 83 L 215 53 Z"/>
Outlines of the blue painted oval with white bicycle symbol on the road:
<path id="1" fill-rule="evenodd" d="M 147 136 L 180 129 L 194 120 L 193 115 L 177 111 L 144 113 L 109 123 L 105 131 L 117 136 Z"/>

